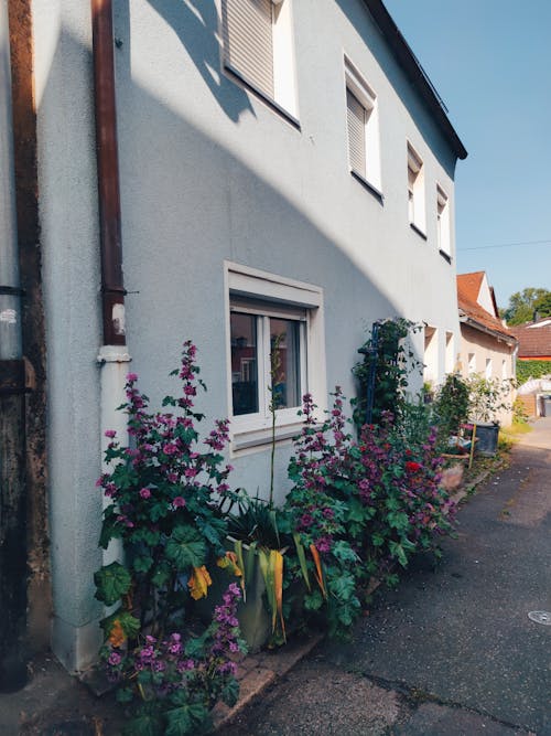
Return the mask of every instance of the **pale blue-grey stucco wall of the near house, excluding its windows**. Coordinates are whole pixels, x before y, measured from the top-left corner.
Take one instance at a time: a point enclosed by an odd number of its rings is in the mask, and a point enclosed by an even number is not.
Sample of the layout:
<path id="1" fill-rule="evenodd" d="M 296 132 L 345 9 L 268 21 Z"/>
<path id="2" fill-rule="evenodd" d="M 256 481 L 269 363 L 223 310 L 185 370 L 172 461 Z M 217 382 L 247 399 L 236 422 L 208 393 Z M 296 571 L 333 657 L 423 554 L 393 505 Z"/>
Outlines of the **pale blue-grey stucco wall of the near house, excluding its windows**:
<path id="1" fill-rule="evenodd" d="M 450 196 L 454 255 L 455 159 L 364 4 L 293 3 L 300 130 L 224 74 L 213 3 L 116 0 L 115 9 L 128 343 L 152 403 L 174 390 L 166 375 L 191 338 L 209 388 L 201 408 L 228 415 L 225 260 L 323 289 L 328 390 L 338 383 L 353 395 L 356 351 L 378 318 L 437 328 L 443 356 L 458 322 L 454 260 L 436 246 L 436 182 Z M 76 668 L 94 652 L 100 563 L 90 19 L 74 0 L 35 0 L 34 11 L 54 643 Z M 382 204 L 349 173 L 344 54 L 377 94 Z M 426 239 L 408 221 L 407 140 L 425 167 Z M 422 358 L 422 334 L 415 346 Z M 280 499 L 288 457 L 280 448 Z M 235 458 L 233 482 L 266 491 L 268 462 L 267 450 Z"/>

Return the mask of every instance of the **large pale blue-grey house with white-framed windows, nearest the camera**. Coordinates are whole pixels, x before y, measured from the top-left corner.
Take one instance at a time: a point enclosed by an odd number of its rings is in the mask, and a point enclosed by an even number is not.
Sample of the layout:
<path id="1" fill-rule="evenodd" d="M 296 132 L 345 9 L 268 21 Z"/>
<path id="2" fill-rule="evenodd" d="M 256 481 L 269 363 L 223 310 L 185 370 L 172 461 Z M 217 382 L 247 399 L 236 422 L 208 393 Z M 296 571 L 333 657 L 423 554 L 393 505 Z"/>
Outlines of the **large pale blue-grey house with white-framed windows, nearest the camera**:
<path id="1" fill-rule="evenodd" d="M 454 171 L 466 151 L 380 0 L 115 0 L 114 84 L 108 23 L 93 40 L 88 3 L 11 4 L 34 43 L 32 64 L 18 66 L 19 45 L 12 58 L 35 90 L 15 120 L 34 106 L 28 217 L 42 270 L 28 298 L 46 326 L 52 646 L 77 670 L 99 641 L 95 481 L 104 431 L 125 433 L 130 358 L 154 406 L 174 387 L 182 341 L 197 344 L 201 410 L 231 417 L 233 482 L 263 492 L 270 339 L 284 334 L 282 499 L 301 394 L 321 408 L 335 384 L 352 396 L 375 320 L 426 324 L 417 358 L 435 382 L 453 369 Z M 29 22 L 12 34 L 21 47 Z"/>

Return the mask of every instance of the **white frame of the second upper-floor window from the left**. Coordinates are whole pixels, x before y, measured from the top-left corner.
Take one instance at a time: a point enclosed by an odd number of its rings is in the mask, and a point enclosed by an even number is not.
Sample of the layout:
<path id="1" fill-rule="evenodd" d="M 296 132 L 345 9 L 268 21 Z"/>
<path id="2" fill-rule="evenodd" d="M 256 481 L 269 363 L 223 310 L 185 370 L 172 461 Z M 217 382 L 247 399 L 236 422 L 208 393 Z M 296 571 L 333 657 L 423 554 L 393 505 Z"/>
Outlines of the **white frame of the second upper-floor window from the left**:
<path id="1" fill-rule="evenodd" d="M 347 115 L 347 146 L 348 164 L 350 171 L 366 181 L 377 193 L 381 193 L 381 166 L 380 166 L 380 136 L 379 136 L 379 105 L 377 95 L 367 84 L 354 64 L 345 56 L 345 85 L 346 85 L 346 115 Z M 358 120 L 361 127 L 361 141 L 357 154 L 353 151 L 350 136 L 350 107 L 348 93 L 355 98 L 357 106 L 363 110 L 363 120 Z M 357 116 L 356 116 L 357 117 Z M 361 159 L 361 160 L 360 160 Z"/>

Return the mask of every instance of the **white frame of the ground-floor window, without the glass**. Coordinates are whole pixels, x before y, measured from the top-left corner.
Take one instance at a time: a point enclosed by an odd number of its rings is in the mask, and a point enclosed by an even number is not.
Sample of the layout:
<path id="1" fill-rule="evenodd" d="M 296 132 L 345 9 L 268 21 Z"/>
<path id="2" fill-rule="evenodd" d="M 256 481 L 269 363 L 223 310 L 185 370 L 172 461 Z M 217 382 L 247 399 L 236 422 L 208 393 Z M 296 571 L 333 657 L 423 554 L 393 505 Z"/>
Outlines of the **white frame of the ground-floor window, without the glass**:
<path id="1" fill-rule="evenodd" d="M 300 322 L 301 393 L 311 393 L 322 414 L 326 407 L 325 334 L 323 314 L 323 289 L 311 284 L 288 279 L 266 271 L 225 262 L 226 292 L 226 361 L 228 375 L 228 416 L 233 450 L 261 449 L 271 441 L 270 392 L 270 329 L 269 318 L 279 317 Z M 231 330 L 230 312 L 247 311 L 258 316 L 259 352 L 258 364 L 259 410 L 256 414 L 233 415 L 231 386 Z M 302 425 L 298 407 L 277 410 L 276 437 L 278 440 L 293 437 Z"/>

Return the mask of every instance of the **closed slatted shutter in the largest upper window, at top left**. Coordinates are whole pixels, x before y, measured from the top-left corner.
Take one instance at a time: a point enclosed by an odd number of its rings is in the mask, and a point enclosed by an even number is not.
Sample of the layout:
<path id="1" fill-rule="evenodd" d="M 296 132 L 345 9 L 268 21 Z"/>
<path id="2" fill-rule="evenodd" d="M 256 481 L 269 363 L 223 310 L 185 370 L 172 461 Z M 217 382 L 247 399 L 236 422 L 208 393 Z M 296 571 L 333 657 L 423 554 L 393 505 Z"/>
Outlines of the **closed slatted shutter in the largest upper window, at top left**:
<path id="1" fill-rule="evenodd" d="M 223 0 L 224 62 L 273 98 L 272 0 Z"/>

